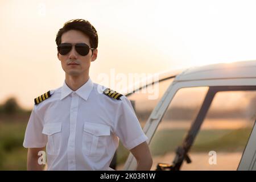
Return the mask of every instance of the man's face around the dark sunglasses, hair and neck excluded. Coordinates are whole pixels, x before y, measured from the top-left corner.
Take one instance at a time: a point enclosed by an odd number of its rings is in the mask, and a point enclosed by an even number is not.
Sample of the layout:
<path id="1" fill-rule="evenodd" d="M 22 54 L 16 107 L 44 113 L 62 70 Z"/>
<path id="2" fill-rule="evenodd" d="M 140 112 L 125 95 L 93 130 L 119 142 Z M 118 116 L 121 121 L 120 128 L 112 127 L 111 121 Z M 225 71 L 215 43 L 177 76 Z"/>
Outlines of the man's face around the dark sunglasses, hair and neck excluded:
<path id="1" fill-rule="evenodd" d="M 77 30 L 69 30 L 65 32 L 61 36 L 61 43 L 85 43 L 91 48 L 89 36 L 86 36 Z M 76 52 L 75 46 L 72 46 L 71 51 L 68 52 L 67 55 L 61 55 L 58 52 L 57 57 L 61 61 L 61 67 L 66 75 L 81 76 L 89 73 L 90 62 L 97 58 L 97 49 L 93 50 L 93 55 L 92 50 L 90 50 L 88 55 L 81 56 Z"/>

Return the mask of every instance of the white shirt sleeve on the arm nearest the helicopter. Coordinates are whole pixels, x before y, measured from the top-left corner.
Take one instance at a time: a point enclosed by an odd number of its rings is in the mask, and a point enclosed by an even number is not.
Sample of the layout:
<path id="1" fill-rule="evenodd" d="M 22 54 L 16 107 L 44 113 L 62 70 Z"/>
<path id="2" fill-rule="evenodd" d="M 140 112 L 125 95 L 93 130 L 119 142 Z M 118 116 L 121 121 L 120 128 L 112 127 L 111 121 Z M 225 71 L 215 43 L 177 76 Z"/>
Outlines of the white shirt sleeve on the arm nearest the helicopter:
<path id="1" fill-rule="evenodd" d="M 131 102 L 125 96 L 121 97 L 118 114 L 119 117 L 115 123 L 115 134 L 121 140 L 123 146 L 131 150 L 148 139 L 135 115 Z"/>

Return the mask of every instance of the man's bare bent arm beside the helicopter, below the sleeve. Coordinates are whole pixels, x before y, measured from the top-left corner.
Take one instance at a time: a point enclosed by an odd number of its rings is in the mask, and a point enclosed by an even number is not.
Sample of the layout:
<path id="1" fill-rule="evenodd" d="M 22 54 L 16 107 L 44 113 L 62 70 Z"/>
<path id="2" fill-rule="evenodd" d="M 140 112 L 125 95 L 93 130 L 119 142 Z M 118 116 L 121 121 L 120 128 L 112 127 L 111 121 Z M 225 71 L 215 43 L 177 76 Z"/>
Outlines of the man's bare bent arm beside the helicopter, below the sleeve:
<path id="1" fill-rule="evenodd" d="M 152 166 L 152 157 L 147 142 L 143 142 L 130 150 L 137 160 L 137 171 L 148 171 Z"/>

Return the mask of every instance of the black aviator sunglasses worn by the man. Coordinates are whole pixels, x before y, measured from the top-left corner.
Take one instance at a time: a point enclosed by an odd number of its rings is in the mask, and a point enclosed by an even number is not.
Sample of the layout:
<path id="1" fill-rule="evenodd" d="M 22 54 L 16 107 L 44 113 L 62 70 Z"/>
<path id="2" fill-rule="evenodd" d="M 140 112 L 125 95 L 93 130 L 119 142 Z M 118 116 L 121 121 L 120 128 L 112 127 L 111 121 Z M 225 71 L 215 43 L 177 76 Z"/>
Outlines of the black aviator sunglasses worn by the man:
<path id="1" fill-rule="evenodd" d="M 72 49 L 72 44 L 71 43 L 61 43 L 58 47 L 58 52 L 61 55 L 67 55 Z M 75 49 L 76 52 L 79 53 L 81 56 L 86 56 L 88 55 L 90 49 L 94 50 L 95 48 L 90 48 L 87 44 L 84 43 L 78 43 L 75 44 Z"/>

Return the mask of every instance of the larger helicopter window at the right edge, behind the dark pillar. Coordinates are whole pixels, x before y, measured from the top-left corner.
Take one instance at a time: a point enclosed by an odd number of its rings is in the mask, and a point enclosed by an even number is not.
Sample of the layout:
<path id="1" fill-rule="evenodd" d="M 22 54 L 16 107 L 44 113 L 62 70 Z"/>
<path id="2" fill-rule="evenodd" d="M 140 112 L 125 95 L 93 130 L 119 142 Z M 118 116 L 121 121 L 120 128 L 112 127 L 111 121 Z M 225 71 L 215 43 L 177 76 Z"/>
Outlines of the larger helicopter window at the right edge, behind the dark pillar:
<path id="1" fill-rule="evenodd" d="M 255 108 L 256 91 L 217 92 L 181 170 L 237 170 Z"/>

